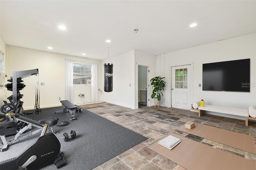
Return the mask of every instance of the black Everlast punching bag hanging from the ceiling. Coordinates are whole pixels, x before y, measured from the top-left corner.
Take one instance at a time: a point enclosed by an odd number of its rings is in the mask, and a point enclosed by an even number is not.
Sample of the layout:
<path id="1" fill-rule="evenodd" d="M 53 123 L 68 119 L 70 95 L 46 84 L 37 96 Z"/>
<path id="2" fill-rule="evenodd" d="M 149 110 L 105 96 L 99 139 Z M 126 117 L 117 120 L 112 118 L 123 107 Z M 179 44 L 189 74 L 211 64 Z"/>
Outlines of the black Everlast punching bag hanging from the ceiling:
<path id="1" fill-rule="evenodd" d="M 105 63 L 104 64 L 104 91 L 111 92 L 113 91 L 113 64 Z"/>

